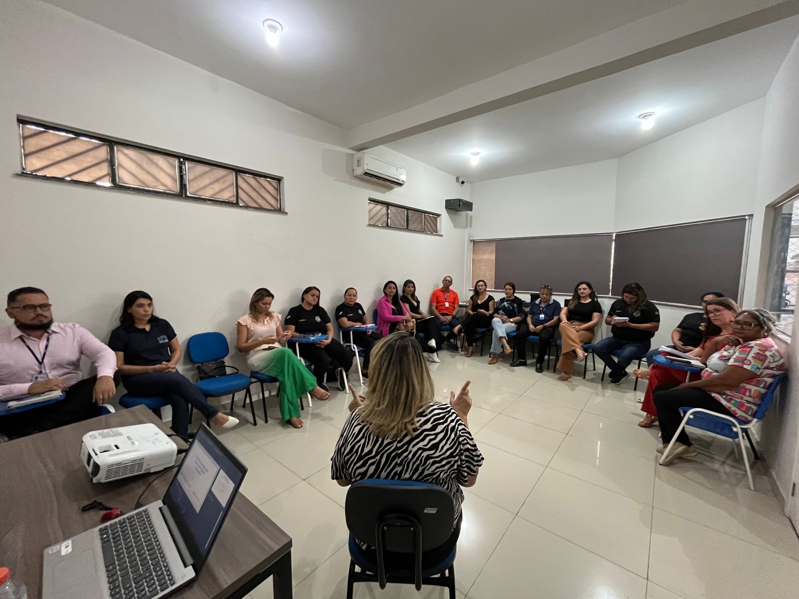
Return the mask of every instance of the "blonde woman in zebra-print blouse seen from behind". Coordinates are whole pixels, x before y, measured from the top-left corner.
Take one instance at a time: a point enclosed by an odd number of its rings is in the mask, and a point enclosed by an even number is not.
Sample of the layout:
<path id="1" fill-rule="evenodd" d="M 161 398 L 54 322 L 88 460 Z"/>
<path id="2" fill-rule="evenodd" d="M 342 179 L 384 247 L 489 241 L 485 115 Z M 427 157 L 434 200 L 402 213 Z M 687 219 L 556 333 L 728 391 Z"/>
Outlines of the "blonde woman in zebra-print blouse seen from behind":
<path id="1" fill-rule="evenodd" d="M 419 343 L 405 332 L 380 339 L 372 349 L 369 388 L 353 400 L 333 452 L 331 477 L 341 486 L 364 478 L 431 482 L 455 502 L 459 531 L 463 490 L 483 465 L 467 415 L 469 381 L 450 403 L 435 401 L 435 387 Z M 453 533 L 455 535 L 455 533 Z"/>

